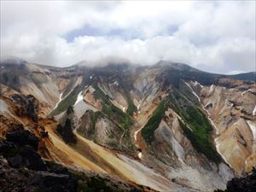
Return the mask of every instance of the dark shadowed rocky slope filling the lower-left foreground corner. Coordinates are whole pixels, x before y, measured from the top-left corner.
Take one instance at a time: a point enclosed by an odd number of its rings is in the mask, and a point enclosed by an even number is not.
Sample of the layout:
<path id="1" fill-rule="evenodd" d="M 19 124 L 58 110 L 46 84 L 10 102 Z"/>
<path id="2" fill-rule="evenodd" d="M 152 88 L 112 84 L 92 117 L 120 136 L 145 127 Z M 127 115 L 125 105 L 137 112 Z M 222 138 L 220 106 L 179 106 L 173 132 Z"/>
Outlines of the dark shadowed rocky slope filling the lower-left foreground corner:
<path id="1" fill-rule="evenodd" d="M 119 178 L 79 172 L 37 153 L 38 137 L 22 129 L 8 132 L 0 141 L 0 191 L 154 191 Z"/>

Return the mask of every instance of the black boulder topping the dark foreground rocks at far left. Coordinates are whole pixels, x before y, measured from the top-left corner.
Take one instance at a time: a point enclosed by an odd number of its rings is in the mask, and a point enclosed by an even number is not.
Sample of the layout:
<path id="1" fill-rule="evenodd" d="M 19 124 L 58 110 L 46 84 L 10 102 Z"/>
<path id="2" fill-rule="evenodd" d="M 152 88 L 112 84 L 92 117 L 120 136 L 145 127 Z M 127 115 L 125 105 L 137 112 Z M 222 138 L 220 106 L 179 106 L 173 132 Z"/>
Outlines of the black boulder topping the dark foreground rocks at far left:
<path id="1" fill-rule="evenodd" d="M 6 140 L 11 143 L 15 143 L 18 146 L 29 145 L 35 150 L 38 150 L 38 137 L 36 137 L 32 132 L 25 130 L 18 130 L 8 132 L 6 134 Z"/>

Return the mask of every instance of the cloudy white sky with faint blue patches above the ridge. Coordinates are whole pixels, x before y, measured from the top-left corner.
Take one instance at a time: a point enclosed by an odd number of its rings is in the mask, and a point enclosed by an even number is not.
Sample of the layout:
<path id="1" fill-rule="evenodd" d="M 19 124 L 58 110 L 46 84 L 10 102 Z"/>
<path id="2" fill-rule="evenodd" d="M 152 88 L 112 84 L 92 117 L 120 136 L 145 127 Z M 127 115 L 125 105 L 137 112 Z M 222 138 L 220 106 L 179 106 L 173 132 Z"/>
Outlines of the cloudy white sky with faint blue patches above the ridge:
<path id="1" fill-rule="evenodd" d="M 2 1 L 1 58 L 255 71 L 255 1 Z"/>

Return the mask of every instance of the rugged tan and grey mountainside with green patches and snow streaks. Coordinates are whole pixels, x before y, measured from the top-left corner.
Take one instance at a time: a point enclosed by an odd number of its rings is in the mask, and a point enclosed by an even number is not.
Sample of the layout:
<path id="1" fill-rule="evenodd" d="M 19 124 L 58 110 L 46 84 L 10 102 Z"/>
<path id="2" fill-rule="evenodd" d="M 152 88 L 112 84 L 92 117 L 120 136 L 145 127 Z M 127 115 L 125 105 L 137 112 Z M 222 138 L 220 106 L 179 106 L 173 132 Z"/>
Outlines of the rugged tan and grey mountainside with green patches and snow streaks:
<path id="1" fill-rule="evenodd" d="M 256 166 L 255 73 L 169 61 L 0 67 L 0 137 L 30 131 L 44 160 L 152 191 L 225 189 Z"/>

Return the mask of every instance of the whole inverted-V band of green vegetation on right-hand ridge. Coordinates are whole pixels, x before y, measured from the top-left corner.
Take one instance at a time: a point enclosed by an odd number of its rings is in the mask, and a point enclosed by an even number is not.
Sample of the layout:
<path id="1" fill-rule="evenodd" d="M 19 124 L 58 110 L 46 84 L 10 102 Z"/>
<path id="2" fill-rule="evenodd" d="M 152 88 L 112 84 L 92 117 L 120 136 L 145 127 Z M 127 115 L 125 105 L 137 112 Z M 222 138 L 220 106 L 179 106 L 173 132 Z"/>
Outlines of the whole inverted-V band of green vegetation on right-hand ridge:
<path id="1" fill-rule="evenodd" d="M 172 108 L 182 119 L 179 121 L 183 132 L 193 147 L 201 154 L 205 154 L 209 160 L 219 163 L 221 158 L 212 143 L 212 125 L 206 115 L 195 106 L 193 102 L 181 94 L 180 90 L 172 89 L 160 105 L 154 110 L 148 123 L 143 127 L 142 136 L 147 143 L 154 138 L 154 131 L 159 127 L 166 108 Z M 191 131 L 191 130 L 192 131 Z"/>

